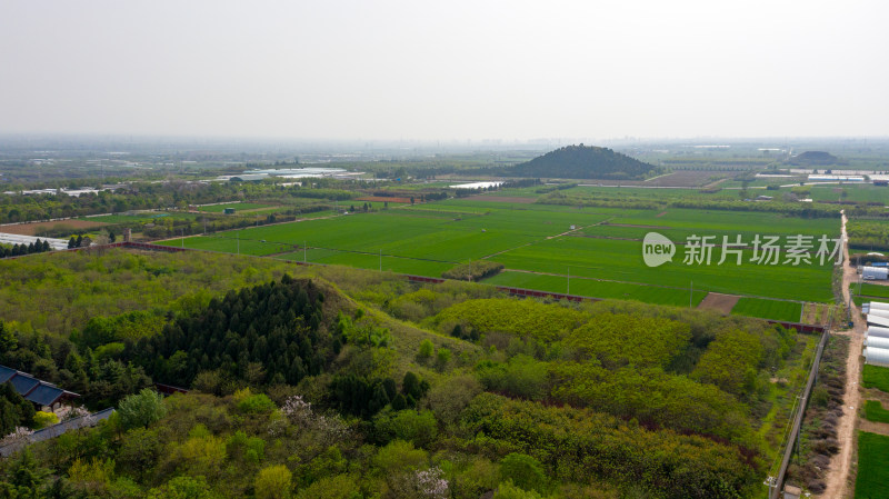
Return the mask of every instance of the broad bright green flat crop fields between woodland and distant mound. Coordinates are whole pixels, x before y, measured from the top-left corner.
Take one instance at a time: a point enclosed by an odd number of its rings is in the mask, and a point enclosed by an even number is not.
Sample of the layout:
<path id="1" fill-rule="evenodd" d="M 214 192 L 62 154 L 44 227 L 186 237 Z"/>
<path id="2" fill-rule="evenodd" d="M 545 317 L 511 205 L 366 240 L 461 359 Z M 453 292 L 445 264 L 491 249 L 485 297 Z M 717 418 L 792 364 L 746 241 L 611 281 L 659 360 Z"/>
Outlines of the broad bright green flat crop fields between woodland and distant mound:
<path id="1" fill-rule="evenodd" d="M 575 227 L 572 230 L 571 227 Z M 641 238 L 657 231 L 677 243 L 672 262 L 648 268 L 641 258 Z M 627 210 L 539 203 L 503 203 L 475 199 L 390 208 L 322 220 L 229 231 L 214 237 L 187 238 L 184 247 L 269 256 L 288 260 L 337 263 L 440 277 L 457 262 L 488 258 L 507 271 L 486 280 L 492 285 L 566 292 L 598 298 L 626 298 L 652 303 L 692 306 L 708 291 L 792 301 L 832 299 L 832 261 L 823 266 L 743 262 L 729 256 L 719 266 L 720 249 L 711 263 L 682 263 L 682 243 L 690 234 L 741 234 L 750 244 L 755 234 L 821 234 L 838 237 L 839 220 L 801 219 L 780 213 L 668 209 Z M 618 239 L 619 238 L 619 239 Z M 240 239 L 240 242 L 238 240 Z M 181 239 L 166 242 L 181 246 Z M 302 246 L 308 250 L 303 251 Z M 812 250 L 813 257 L 815 250 Z M 381 266 L 382 263 L 382 266 Z M 796 315 L 799 303 L 753 302 L 745 312 L 780 319 Z M 745 308 L 746 307 L 746 308 Z M 738 312 L 741 311 L 738 310 Z M 749 310 L 748 310 L 749 309 Z M 771 317 L 769 317 L 771 318 Z"/>

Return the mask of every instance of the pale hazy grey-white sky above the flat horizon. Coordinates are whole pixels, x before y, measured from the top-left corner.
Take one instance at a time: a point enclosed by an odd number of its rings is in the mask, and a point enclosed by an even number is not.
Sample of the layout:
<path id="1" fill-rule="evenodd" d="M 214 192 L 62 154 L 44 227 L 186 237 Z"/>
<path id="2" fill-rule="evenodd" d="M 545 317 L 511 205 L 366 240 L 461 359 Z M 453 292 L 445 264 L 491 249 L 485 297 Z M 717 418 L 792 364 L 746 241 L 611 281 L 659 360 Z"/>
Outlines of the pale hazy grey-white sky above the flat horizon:
<path id="1" fill-rule="evenodd" d="M 889 136 L 889 2 L 0 0 L 0 132 Z"/>

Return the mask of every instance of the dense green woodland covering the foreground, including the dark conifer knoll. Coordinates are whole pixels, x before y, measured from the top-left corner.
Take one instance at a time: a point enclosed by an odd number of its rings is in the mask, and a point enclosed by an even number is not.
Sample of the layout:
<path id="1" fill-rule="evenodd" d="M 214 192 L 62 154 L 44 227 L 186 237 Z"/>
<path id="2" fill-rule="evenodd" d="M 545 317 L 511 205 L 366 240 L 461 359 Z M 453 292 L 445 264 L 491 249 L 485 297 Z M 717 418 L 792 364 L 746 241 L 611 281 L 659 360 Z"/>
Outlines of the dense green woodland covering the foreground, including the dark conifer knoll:
<path id="1" fill-rule="evenodd" d="M 771 377 L 811 353 L 752 319 L 336 267 L 122 250 L 3 266 L 0 363 L 118 410 L 1 461 L 0 497 L 751 497 L 782 426 L 758 421 L 802 381 Z M 48 282 L 74 279 L 97 301 L 51 317 L 79 298 Z M 123 287 L 140 299 L 102 303 Z"/>

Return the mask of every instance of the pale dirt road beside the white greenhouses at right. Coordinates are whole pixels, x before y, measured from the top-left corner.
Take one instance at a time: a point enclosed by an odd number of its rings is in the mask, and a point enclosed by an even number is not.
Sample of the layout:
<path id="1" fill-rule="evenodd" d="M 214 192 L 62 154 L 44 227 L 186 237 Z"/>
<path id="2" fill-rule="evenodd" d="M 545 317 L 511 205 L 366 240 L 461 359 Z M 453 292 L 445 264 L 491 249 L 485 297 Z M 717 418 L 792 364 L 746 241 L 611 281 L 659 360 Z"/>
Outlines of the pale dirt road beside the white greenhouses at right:
<path id="1" fill-rule="evenodd" d="M 846 234 L 846 213 L 842 213 L 842 239 L 848 241 Z M 823 498 L 841 499 L 851 497 L 850 487 L 852 460 L 855 459 L 856 428 L 858 426 L 858 408 L 861 406 L 861 392 L 858 380 L 861 372 L 861 346 L 865 340 L 867 322 L 861 319 L 858 308 L 849 300 L 849 285 L 858 280 L 858 272 L 849 265 L 849 248 L 843 244 L 842 261 L 842 299 L 850 303 L 853 328 L 848 331 L 838 331 L 837 335 L 849 337 L 849 357 L 846 359 L 846 393 L 843 395 L 842 417 L 837 422 L 837 440 L 840 451 L 830 460 L 825 481 L 827 488 L 821 495 Z"/>

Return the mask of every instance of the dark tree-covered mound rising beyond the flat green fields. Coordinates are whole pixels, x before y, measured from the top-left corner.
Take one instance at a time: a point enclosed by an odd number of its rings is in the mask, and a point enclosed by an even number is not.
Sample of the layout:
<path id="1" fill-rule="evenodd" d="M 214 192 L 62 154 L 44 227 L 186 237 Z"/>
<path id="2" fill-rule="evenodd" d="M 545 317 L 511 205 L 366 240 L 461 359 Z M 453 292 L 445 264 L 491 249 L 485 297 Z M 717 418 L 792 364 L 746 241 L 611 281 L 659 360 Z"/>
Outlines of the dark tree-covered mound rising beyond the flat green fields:
<path id="1" fill-rule="evenodd" d="M 517 164 L 509 170 L 509 174 L 560 179 L 642 180 L 662 171 L 660 167 L 645 163 L 611 149 L 581 143 L 566 146 Z"/>

